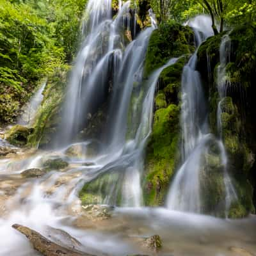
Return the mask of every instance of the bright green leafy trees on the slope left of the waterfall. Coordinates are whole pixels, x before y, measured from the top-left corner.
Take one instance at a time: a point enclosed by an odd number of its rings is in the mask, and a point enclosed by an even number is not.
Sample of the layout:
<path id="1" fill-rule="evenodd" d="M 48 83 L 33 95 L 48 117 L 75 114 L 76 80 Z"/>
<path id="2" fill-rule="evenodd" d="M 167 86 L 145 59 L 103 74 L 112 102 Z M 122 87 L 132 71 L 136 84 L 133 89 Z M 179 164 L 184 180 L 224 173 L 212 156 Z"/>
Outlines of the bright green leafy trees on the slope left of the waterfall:
<path id="1" fill-rule="evenodd" d="M 0 122 L 13 122 L 38 81 L 72 61 L 86 0 L 0 0 Z"/>

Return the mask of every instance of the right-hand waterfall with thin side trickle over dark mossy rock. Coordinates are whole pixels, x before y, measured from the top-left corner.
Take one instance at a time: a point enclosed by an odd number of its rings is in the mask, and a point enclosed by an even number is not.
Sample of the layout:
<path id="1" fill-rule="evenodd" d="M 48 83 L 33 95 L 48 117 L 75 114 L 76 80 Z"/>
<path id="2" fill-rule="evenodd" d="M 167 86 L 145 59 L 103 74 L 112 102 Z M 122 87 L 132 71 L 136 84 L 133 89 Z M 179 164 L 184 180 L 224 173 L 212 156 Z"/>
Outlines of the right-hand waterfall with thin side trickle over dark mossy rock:
<path id="1" fill-rule="evenodd" d="M 211 29 L 209 17 L 199 16 L 192 22 L 188 22 L 188 24 L 195 31 L 195 42 L 198 47 L 212 35 L 212 33 L 209 33 L 211 31 L 209 30 Z M 223 51 L 222 44 L 221 51 Z M 182 165 L 177 170 L 170 186 L 166 204 L 169 209 L 178 211 L 197 213 L 207 211 L 203 200 L 205 191 L 202 191 L 202 182 L 204 183 L 204 173 L 206 172 L 205 175 L 209 175 L 207 172 L 209 172 L 209 168 L 211 169 L 207 157 L 211 157 L 211 147 L 216 145 L 218 153 L 214 153 L 214 156 L 220 159 L 220 166 L 223 166 L 222 176 L 223 186 L 225 187 L 225 210 L 227 213 L 234 188 L 227 172 L 228 161 L 223 142 L 217 140 L 210 133 L 207 100 L 205 99 L 200 74 L 196 70 L 196 61 L 197 51 L 182 72 L 182 109 L 180 114 Z M 225 61 L 225 57 L 222 55 L 221 61 Z M 224 63 L 221 63 L 221 68 L 218 69 L 220 76 L 225 74 L 225 70 L 222 68 L 223 65 Z M 220 79 L 223 79 L 223 77 L 218 77 L 218 81 Z"/>

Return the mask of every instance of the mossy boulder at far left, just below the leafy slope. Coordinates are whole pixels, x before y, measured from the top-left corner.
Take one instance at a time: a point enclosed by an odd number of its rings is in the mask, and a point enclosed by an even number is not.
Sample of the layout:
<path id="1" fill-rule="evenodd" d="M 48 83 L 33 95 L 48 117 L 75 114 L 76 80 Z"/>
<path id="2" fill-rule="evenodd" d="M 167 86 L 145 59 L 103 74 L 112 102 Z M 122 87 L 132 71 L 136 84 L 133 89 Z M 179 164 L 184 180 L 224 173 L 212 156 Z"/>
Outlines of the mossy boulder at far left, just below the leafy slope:
<path id="1" fill-rule="evenodd" d="M 33 128 L 15 125 L 6 133 L 6 140 L 12 145 L 24 147 L 28 143 L 28 137 L 33 131 Z"/>

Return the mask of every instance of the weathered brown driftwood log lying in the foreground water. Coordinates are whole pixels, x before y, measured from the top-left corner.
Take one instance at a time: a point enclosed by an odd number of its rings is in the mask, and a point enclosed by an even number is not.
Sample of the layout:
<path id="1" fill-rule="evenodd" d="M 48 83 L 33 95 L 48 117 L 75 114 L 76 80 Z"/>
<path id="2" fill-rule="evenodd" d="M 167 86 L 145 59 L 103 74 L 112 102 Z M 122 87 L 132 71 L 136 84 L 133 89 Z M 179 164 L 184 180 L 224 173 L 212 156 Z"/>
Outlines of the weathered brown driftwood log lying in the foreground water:
<path id="1" fill-rule="evenodd" d="M 14 224 L 12 227 L 24 234 L 29 239 L 30 243 L 33 244 L 35 250 L 45 256 L 93 256 L 88 253 L 79 252 L 76 249 L 65 248 L 64 246 L 56 244 L 28 227 L 19 224 Z"/>

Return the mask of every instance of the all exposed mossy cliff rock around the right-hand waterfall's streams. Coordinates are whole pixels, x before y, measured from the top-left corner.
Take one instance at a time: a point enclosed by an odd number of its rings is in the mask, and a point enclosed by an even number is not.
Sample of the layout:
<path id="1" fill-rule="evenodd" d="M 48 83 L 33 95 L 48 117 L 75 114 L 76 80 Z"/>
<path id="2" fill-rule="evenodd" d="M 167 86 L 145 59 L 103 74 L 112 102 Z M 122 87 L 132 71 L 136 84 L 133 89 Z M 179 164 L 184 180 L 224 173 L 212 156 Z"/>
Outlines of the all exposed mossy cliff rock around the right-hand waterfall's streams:
<path id="1" fill-rule="evenodd" d="M 150 38 L 145 63 L 145 77 L 161 67 L 169 58 L 191 54 L 193 35 L 187 27 L 166 24 L 154 31 Z M 227 85 L 225 97 L 220 102 L 218 92 L 218 67 L 220 45 L 223 36 L 230 38 L 230 56 L 225 65 Z M 202 76 L 208 99 L 211 132 L 218 138 L 218 108 L 221 111 L 221 134 L 227 151 L 228 173 L 237 193 L 237 202 L 232 203 L 228 216 L 240 218 L 255 212 L 255 27 L 244 25 L 212 36 L 198 49 L 197 70 Z M 155 113 L 152 135 L 148 141 L 143 176 L 143 192 L 146 205 L 163 205 L 173 173 L 177 170 L 180 145 L 180 78 L 187 58 L 166 68 L 159 79 L 155 96 Z M 223 195 L 223 166 L 214 157 L 216 148 L 207 156 L 207 175 L 202 175 L 202 204 L 205 212 L 216 213 Z M 215 150 L 215 151 L 214 151 Z M 218 151 L 218 150 L 217 150 Z M 219 152 L 220 153 L 220 152 Z M 217 155 L 216 155 L 217 156 Z"/>

